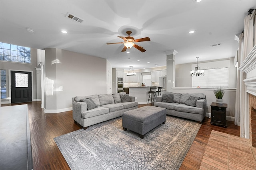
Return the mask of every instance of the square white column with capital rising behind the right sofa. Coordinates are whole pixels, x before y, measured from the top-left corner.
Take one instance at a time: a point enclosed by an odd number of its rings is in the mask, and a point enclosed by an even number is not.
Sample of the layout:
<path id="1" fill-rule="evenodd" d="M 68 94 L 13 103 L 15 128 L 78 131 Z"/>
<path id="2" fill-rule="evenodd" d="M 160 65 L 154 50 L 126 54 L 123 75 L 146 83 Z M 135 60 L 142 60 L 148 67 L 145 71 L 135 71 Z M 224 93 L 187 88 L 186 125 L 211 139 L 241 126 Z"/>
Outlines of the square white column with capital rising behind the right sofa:
<path id="1" fill-rule="evenodd" d="M 175 87 L 175 55 L 178 53 L 176 50 L 166 51 L 166 90 L 171 91 Z"/>

